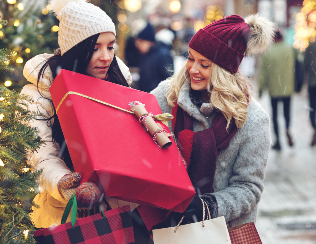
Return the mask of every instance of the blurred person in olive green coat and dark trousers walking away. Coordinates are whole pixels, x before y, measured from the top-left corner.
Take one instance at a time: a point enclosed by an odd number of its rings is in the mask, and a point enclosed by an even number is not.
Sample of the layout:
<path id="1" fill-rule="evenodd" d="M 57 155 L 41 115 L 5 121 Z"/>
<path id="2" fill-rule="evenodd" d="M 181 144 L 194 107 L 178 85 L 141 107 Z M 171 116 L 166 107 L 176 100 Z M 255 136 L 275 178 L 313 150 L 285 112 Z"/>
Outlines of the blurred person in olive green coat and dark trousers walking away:
<path id="1" fill-rule="evenodd" d="M 290 125 L 290 101 L 294 92 L 294 65 L 295 56 L 291 46 L 283 42 L 281 30 L 276 30 L 275 43 L 266 53 L 261 62 L 259 74 L 259 95 L 268 89 L 271 96 L 272 119 L 276 142 L 273 149 L 280 150 L 279 128 L 277 122 L 277 105 L 283 102 L 283 113 L 286 124 L 286 136 L 289 146 L 293 146 L 293 139 L 289 132 Z"/>

